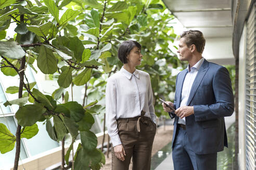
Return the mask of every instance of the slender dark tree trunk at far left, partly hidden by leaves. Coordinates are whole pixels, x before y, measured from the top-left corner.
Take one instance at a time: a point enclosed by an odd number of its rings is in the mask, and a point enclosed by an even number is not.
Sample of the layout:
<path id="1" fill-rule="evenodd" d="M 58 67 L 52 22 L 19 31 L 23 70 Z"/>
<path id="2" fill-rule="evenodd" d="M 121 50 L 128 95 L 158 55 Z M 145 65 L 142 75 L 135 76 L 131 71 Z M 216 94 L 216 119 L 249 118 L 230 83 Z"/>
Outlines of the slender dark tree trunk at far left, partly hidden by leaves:
<path id="1" fill-rule="evenodd" d="M 20 69 L 22 70 L 20 72 L 20 84 L 19 84 L 19 98 L 22 97 L 22 91 L 23 91 L 23 80 L 24 80 L 24 68 L 25 68 L 26 59 L 25 56 L 21 59 L 20 63 Z M 21 126 L 18 124 L 17 131 L 16 131 L 16 153 L 15 153 L 15 160 L 14 160 L 14 170 L 18 169 L 19 166 L 19 159 L 20 159 L 20 131 Z"/>

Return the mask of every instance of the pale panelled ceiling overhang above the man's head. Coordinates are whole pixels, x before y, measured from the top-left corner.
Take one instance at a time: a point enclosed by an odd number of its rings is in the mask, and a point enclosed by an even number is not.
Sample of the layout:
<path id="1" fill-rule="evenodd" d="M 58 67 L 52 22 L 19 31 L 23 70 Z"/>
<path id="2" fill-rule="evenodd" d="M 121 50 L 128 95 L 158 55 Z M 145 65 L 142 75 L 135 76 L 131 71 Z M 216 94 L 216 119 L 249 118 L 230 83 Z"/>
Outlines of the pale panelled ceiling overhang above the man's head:
<path id="1" fill-rule="evenodd" d="M 200 30 L 206 38 L 232 37 L 231 0 L 163 0 L 187 28 Z"/>

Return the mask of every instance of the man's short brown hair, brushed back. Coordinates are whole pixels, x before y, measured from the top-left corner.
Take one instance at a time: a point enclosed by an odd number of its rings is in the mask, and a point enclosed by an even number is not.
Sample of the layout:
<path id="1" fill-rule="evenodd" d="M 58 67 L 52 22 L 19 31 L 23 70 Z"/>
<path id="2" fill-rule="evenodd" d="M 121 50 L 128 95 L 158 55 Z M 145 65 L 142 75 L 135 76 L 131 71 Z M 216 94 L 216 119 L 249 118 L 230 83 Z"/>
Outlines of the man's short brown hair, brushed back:
<path id="1" fill-rule="evenodd" d="M 184 31 L 181 38 L 185 38 L 185 43 L 188 47 L 195 45 L 198 52 L 202 53 L 204 50 L 204 45 L 206 45 L 206 39 L 204 39 L 201 31 L 189 30 Z"/>

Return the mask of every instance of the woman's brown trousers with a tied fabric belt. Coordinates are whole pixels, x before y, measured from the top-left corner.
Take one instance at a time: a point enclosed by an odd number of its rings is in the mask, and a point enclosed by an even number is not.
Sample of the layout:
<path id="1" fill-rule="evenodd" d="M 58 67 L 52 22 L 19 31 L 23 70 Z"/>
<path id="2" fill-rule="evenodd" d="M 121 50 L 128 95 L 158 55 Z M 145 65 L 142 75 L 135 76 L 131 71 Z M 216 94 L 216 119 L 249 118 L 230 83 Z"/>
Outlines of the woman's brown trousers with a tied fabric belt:
<path id="1" fill-rule="evenodd" d="M 120 161 L 112 148 L 112 170 L 128 170 L 133 157 L 133 170 L 149 170 L 152 144 L 156 134 L 156 124 L 150 118 L 120 118 L 117 120 L 125 160 Z M 140 132 L 138 132 L 140 129 Z"/>

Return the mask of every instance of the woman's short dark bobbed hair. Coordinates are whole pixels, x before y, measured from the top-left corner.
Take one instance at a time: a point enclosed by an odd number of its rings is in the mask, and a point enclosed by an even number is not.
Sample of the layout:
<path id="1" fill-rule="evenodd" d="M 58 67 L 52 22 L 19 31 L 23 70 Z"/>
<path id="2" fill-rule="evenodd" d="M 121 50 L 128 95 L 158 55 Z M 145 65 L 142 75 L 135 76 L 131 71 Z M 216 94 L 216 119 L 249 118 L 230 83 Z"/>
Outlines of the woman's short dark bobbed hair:
<path id="1" fill-rule="evenodd" d="M 127 55 L 130 54 L 134 47 L 137 47 L 139 50 L 142 49 L 142 46 L 137 41 L 133 40 L 123 41 L 118 48 L 118 58 L 123 64 L 127 63 Z"/>

